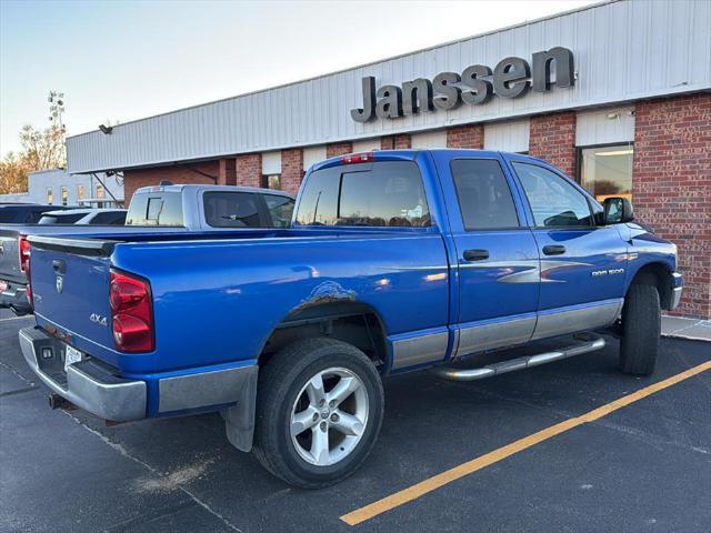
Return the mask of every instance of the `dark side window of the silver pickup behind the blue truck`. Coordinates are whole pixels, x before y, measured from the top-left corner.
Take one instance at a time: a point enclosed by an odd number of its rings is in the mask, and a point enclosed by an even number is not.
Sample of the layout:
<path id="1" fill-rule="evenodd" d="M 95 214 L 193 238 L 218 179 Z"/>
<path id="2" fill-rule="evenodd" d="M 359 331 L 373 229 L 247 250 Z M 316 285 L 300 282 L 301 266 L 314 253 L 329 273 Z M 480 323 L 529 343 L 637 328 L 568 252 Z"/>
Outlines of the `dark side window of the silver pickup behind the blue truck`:
<path id="1" fill-rule="evenodd" d="M 206 192 L 204 220 L 212 228 L 263 228 L 251 192 Z"/>

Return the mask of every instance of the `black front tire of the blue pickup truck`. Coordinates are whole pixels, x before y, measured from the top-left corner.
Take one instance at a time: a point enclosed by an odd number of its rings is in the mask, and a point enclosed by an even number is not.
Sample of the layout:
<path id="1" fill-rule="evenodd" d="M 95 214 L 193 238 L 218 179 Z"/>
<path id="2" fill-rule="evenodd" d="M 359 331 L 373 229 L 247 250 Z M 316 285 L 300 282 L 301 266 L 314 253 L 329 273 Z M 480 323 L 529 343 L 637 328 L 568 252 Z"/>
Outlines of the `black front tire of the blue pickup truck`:
<path id="1" fill-rule="evenodd" d="M 622 308 L 620 370 L 625 374 L 650 375 L 657 366 L 661 309 L 654 285 L 633 284 Z"/>

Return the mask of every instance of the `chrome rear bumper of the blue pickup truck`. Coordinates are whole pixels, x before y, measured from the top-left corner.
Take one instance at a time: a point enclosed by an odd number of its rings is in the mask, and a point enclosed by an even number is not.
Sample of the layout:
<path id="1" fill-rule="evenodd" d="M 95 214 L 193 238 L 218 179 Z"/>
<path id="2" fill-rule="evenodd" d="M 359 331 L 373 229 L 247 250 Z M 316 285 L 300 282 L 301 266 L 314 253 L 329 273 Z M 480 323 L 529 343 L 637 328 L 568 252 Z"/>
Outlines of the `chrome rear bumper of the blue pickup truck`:
<path id="1" fill-rule="evenodd" d="M 47 386 L 74 405 L 106 420 L 146 418 L 146 382 L 113 375 L 96 360 L 63 370 L 66 344 L 37 328 L 20 330 L 20 348 L 32 371 Z"/>

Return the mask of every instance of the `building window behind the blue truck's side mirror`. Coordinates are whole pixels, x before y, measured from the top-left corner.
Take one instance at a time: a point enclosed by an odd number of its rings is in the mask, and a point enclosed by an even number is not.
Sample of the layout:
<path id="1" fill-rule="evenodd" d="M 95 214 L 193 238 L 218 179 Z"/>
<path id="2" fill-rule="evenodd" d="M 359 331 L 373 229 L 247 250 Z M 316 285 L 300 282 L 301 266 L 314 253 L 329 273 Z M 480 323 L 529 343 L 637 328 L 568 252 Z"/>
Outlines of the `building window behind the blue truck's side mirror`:
<path id="1" fill-rule="evenodd" d="M 631 144 L 579 148 L 580 184 L 599 202 L 608 197 L 632 199 Z"/>

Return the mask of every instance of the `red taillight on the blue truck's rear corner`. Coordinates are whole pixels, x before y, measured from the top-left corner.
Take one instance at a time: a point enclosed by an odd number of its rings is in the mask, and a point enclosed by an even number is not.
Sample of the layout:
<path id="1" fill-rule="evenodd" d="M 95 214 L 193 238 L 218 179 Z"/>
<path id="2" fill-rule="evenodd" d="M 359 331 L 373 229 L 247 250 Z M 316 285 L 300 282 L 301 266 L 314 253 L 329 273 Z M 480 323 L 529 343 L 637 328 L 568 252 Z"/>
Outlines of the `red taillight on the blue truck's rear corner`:
<path id="1" fill-rule="evenodd" d="M 148 281 L 111 271 L 109 302 L 113 342 L 121 352 L 151 352 L 156 346 L 153 310 Z"/>

